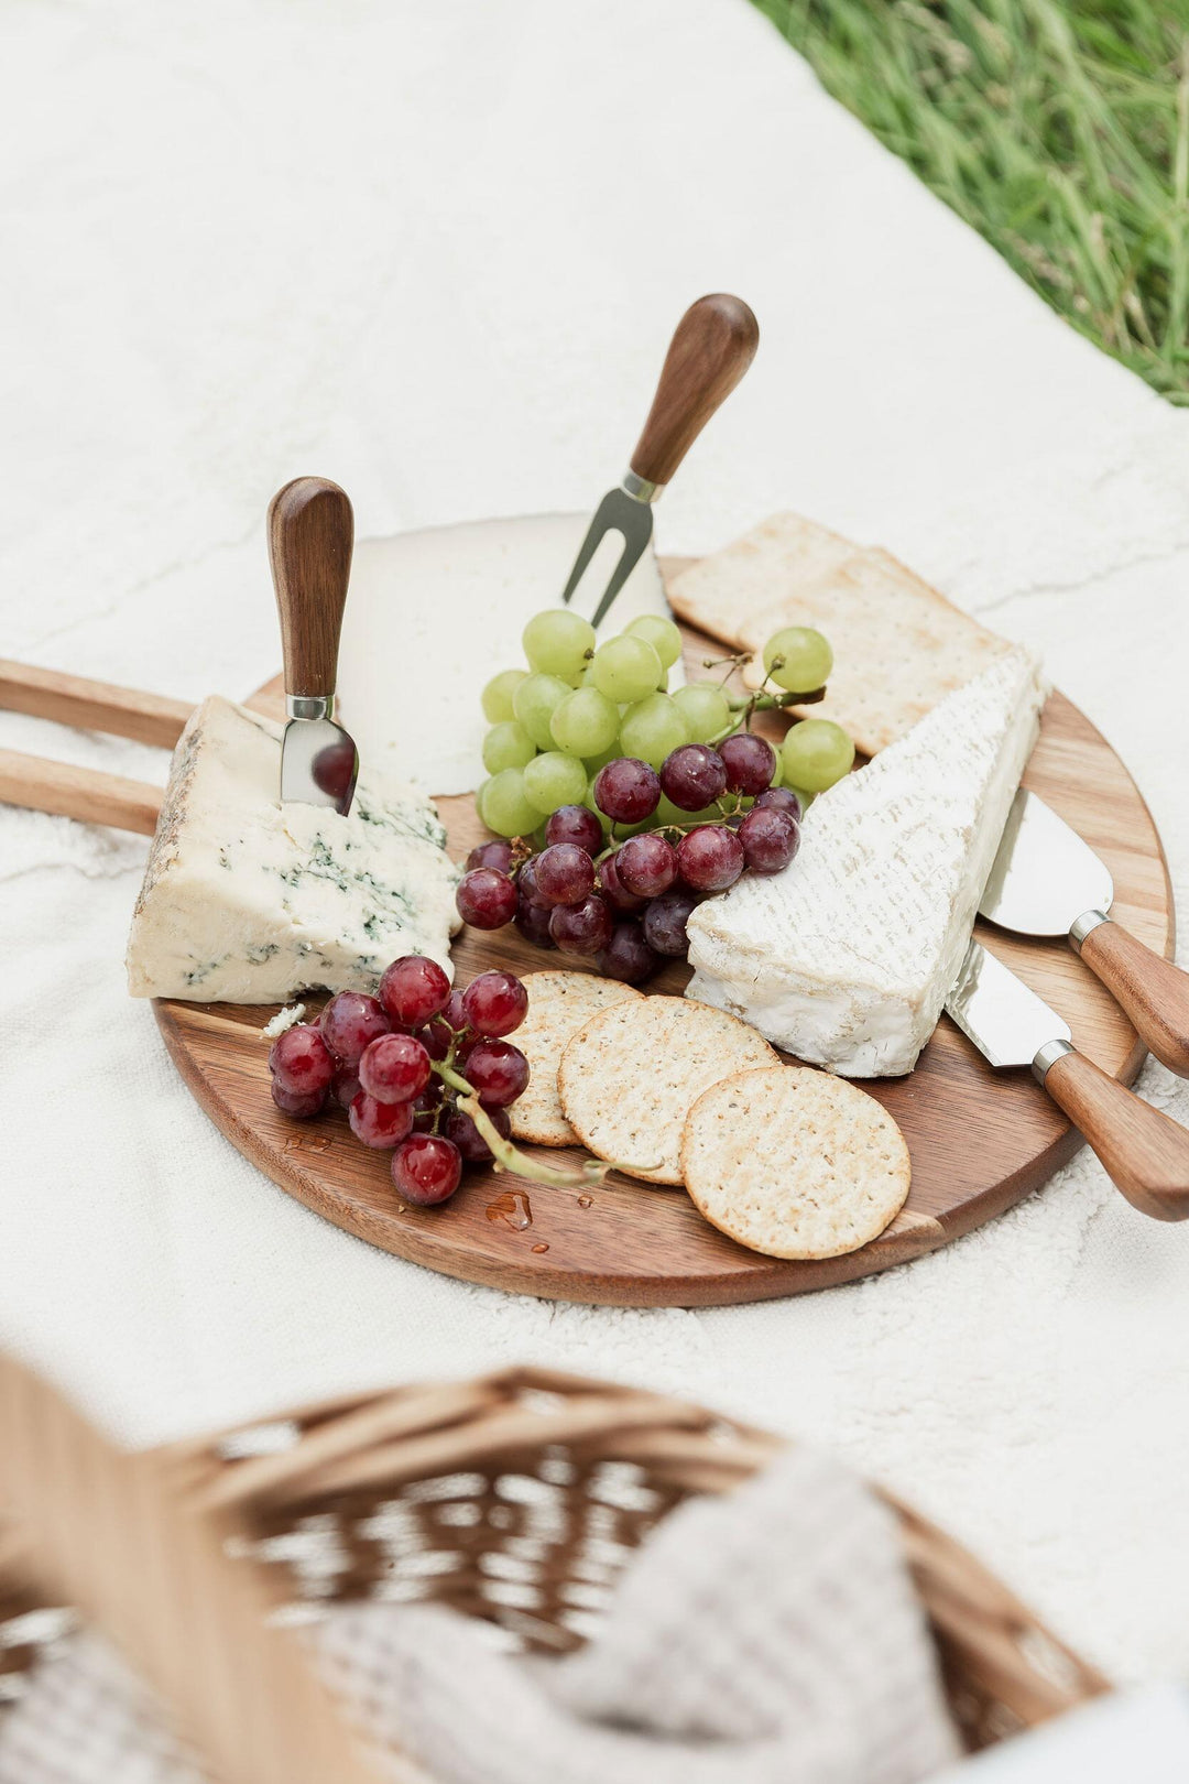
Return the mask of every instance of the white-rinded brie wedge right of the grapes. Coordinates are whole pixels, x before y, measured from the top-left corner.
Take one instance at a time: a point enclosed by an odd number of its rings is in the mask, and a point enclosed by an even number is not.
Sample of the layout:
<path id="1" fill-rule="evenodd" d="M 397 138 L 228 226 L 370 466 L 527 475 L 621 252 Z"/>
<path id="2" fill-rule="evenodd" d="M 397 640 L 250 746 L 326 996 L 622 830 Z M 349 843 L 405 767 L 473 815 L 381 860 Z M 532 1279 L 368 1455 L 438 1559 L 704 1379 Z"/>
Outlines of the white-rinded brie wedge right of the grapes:
<path id="1" fill-rule="evenodd" d="M 783 874 L 690 917 L 688 997 L 845 1078 L 909 1072 L 957 978 L 1043 689 L 1023 649 L 815 799 Z"/>

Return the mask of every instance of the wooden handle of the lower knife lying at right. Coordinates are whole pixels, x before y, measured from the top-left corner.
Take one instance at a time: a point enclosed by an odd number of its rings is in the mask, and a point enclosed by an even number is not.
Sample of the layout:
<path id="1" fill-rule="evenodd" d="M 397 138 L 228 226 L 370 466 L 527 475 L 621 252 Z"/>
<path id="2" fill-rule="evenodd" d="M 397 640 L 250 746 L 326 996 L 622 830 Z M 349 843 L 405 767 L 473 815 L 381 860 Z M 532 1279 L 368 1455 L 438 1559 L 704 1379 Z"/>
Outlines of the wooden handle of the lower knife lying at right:
<path id="1" fill-rule="evenodd" d="M 1084 1053 L 1062 1053 L 1045 1090 L 1098 1154 L 1114 1186 L 1153 1220 L 1189 1218 L 1189 1133 Z"/>

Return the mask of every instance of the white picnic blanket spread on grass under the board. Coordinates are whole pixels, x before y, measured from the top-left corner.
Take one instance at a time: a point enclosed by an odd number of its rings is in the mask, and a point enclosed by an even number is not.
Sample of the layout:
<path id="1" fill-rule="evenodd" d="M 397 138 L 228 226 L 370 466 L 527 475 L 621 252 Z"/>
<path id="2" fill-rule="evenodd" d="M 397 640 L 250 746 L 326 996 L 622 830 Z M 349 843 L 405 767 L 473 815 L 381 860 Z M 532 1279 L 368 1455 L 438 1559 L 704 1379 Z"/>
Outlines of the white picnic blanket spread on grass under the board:
<path id="1" fill-rule="evenodd" d="M 763 343 L 661 548 L 793 507 L 938 578 L 1119 747 L 1185 903 L 1189 417 L 745 0 L 80 0 L 0 30 L 5 655 L 248 692 L 276 667 L 262 516 L 287 476 L 337 476 L 360 535 L 590 505 L 681 309 L 734 289 Z M 0 744 L 164 776 L 7 715 Z M 526 1358 L 697 1393 L 886 1477 L 1114 1672 L 1189 1668 L 1189 1229 L 1082 1156 L 963 1243 L 797 1302 L 431 1276 L 193 1106 L 123 994 L 143 853 L 0 814 L 0 1340 L 91 1413 L 152 1440 Z M 1189 1117 L 1160 1069 L 1143 1088 Z"/>

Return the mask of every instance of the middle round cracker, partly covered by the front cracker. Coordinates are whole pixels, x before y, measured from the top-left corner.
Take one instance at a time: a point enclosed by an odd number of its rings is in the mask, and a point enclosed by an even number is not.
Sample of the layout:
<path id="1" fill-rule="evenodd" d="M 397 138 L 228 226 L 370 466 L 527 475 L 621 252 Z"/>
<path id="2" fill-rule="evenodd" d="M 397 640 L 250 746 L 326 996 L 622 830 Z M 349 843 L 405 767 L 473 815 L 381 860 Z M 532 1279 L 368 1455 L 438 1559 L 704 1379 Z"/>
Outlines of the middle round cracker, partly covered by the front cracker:
<path id="1" fill-rule="evenodd" d="M 574 1035 L 558 1067 L 562 1110 L 595 1158 L 645 1183 L 681 1183 L 681 1129 L 720 1078 L 777 1065 L 738 1017 L 690 997 L 613 1004 Z"/>

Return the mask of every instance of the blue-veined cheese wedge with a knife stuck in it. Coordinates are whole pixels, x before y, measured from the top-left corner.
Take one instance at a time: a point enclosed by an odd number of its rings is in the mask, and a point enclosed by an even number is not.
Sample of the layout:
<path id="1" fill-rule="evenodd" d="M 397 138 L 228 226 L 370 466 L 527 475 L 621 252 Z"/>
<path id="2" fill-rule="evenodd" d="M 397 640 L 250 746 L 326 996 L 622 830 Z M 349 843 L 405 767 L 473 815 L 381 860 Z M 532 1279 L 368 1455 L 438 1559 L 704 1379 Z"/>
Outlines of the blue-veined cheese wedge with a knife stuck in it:
<path id="1" fill-rule="evenodd" d="M 178 739 L 128 938 L 134 997 L 282 1003 L 446 970 L 458 871 L 421 794 L 360 772 L 348 817 L 280 803 L 282 728 L 212 698 Z"/>

